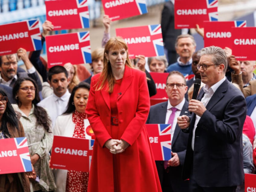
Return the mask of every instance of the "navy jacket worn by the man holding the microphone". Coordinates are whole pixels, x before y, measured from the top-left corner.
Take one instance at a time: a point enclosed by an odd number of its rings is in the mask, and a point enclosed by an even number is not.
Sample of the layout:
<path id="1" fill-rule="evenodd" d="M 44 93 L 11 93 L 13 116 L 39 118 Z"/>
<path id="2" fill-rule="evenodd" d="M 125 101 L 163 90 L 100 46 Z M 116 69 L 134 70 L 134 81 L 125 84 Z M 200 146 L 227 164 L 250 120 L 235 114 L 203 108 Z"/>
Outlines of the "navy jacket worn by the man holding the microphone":
<path id="1" fill-rule="evenodd" d="M 198 99 L 203 98 L 201 89 Z M 189 140 L 183 178 L 194 178 L 201 187 L 227 187 L 243 183 L 242 129 L 246 102 L 242 92 L 227 79 L 215 91 L 195 131 L 191 148 L 195 114 L 189 127 Z"/>

